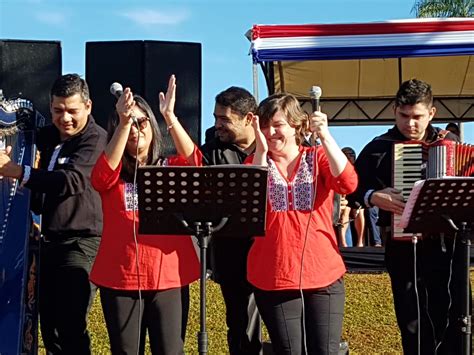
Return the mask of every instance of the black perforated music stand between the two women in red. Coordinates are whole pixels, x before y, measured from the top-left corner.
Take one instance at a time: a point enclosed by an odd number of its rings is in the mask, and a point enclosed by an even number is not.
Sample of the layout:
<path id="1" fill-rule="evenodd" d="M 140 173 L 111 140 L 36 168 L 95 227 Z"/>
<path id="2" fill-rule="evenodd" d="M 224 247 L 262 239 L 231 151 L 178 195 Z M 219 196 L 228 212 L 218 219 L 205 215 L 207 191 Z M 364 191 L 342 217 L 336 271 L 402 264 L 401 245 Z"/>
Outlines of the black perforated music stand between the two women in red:
<path id="1" fill-rule="evenodd" d="M 225 165 L 138 169 L 140 234 L 194 235 L 201 258 L 199 354 L 207 354 L 206 253 L 212 237 L 264 236 L 267 170 Z"/>

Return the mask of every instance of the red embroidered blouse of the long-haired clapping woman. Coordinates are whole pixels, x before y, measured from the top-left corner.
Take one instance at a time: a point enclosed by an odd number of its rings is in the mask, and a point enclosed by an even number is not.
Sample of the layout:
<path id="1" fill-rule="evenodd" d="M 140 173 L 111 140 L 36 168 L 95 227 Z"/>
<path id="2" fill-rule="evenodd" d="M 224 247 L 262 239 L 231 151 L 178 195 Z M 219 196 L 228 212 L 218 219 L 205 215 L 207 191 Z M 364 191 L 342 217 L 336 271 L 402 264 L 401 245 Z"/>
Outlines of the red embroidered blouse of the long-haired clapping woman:
<path id="1" fill-rule="evenodd" d="M 195 149 L 195 154 L 199 151 Z M 200 158 L 196 157 L 200 162 Z M 173 157 L 167 165 L 189 165 Z M 120 179 L 122 164 L 112 170 L 103 153 L 92 171 L 92 186 L 100 193 L 104 228 L 90 279 L 98 286 L 137 290 L 136 249 L 133 238 L 133 184 Z M 138 212 L 136 216 L 138 231 Z M 138 264 L 140 289 L 164 290 L 188 285 L 199 278 L 199 260 L 190 236 L 140 235 Z"/>

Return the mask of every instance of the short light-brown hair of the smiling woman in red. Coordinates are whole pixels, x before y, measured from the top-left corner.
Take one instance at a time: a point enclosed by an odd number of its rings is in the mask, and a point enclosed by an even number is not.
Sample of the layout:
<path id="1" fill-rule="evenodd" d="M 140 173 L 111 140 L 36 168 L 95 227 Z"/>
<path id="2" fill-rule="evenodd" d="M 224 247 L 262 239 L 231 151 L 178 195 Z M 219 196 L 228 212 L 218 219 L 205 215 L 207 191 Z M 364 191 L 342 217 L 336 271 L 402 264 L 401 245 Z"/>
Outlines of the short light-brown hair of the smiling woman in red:
<path id="1" fill-rule="evenodd" d="M 257 109 L 260 127 L 268 127 L 277 111 L 283 112 L 288 124 L 296 130 L 296 144 L 303 143 L 308 131 L 309 117 L 301 108 L 298 99 L 291 94 L 281 93 L 273 94 L 260 102 Z"/>

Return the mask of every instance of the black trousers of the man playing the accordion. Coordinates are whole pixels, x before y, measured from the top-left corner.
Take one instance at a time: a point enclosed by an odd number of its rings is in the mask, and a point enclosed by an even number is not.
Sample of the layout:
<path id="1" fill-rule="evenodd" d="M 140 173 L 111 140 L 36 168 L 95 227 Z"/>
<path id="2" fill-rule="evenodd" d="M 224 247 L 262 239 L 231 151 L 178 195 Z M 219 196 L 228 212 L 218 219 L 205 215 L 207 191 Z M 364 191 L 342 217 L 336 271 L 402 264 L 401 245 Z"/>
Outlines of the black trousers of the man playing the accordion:
<path id="1" fill-rule="evenodd" d="M 422 354 L 461 354 L 461 248 L 453 238 L 425 239 L 417 244 L 417 288 L 420 305 Z M 443 250 L 445 249 L 445 250 Z M 452 266 L 451 266 L 452 263 Z M 386 264 L 403 352 L 418 352 L 417 298 L 414 281 L 414 253 L 410 242 L 387 243 Z M 448 284 L 450 287 L 448 289 Z M 471 294 L 472 295 L 472 294 Z M 472 299 L 471 299 L 472 304 Z M 471 305 L 472 309 L 472 305 Z M 472 311 L 471 311 L 472 313 Z"/>

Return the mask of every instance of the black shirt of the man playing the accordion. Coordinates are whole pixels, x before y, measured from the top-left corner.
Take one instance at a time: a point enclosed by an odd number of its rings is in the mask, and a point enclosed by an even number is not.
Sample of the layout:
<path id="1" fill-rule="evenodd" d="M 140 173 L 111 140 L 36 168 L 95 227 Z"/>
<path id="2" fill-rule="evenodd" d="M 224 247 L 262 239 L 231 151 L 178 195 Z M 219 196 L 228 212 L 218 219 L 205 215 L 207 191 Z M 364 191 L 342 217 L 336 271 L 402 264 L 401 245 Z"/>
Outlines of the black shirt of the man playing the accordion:
<path id="1" fill-rule="evenodd" d="M 426 143 L 432 143 L 440 139 L 441 129 L 429 125 Z M 444 132 L 445 133 L 445 132 Z M 445 139 L 459 141 L 459 138 L 448 132 Z M 396 126 L 386 133 L 374 138 L 368 143 L 355 162 L 355 168 L 359 175 L 357 190 L 348 196 L 349 206 L 357 208 L 365 207 L 364 196 L 368 190 L 381 190 L 392 186 L 392 145 L 395 142 L 408 141 Z M 379 226 L 390 226 L 391 213 L 379 211 Z"/>

